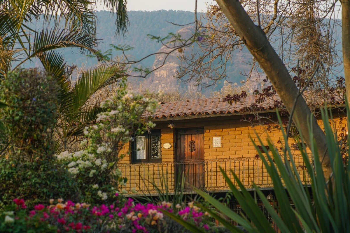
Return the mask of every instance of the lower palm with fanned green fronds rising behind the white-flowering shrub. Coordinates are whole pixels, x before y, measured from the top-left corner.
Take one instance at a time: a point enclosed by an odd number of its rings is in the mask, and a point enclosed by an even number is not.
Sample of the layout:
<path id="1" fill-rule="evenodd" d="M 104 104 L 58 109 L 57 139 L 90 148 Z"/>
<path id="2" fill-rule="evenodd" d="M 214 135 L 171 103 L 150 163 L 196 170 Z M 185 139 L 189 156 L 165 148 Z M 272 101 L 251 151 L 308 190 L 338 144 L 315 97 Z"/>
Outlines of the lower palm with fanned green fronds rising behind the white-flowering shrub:
<path id="1" fill-rule="evenodd" d="M 99 101 L 89 104 L 91 97 L 100 89 L 118 82 L 123 77 L 118 64 L 103 64 L 85 70 L 72 87 L 63 84 L 62 99 L 58 109 L 56 152 L 67 150 L 70 138 L 83 136 L 85 126 L 91 124 L 97 114 L 104 111 Z"/>

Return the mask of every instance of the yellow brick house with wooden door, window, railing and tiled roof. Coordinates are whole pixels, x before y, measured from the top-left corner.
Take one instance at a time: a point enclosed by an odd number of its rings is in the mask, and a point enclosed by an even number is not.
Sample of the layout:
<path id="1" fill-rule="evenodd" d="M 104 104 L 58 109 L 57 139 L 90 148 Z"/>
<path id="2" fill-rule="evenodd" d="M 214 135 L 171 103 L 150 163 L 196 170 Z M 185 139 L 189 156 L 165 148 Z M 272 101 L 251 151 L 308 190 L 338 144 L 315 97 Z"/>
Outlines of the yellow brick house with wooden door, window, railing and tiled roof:
<path id="1" fill-rule="evenodd" d="M 259 114 L 275 114 L 276 98 L 264 102 Z M 254 102 L 255 97 L 251 96 L 232 106 L 221 98 L 160 104 L 151 116 L 156 127 L 150 134 L 126 144 L 121 152 L 126 154 L 119 161 L 123 176 L 128 178 L 126 191 L 137 193 L 133 195 L 154 195 L 155 184 L 174 192 L 176 181 L 183 175 L 184 191 L 191 193 L 191 187 L 195 186 L 209 192 L 225 192 L 229 187 L 219 167 L 226 174 L 233 170 L 247 188 L 252 187 L 252 182 L 261 188 L 273 188 L 253 142 L 260 144 L 260 137 L 267 145 L 269 137 L 279 147 L 283 142 L 282 131 L 267 130 L 273 128 L 268 125 L 252 127 L 251 123 L 241 121 L 244 108 Z M 339 131 L 346 126 L 341 115 L 333 117 Z M 290 138 L 288 144 L 294 142 Z M 300 177 L 309 182 L 300 152 L 293 149 L 293 153 Z"/>

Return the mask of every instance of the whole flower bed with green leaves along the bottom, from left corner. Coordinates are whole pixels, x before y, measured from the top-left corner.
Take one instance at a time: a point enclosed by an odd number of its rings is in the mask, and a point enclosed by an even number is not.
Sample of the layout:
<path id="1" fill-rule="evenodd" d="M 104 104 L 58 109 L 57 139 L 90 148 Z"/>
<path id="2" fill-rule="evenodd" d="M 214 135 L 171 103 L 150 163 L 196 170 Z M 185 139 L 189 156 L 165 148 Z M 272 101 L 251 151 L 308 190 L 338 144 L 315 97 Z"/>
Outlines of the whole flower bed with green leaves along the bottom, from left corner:
<path id="1" fill-rule="evenodd" d="M 0 232 L 93 232 L 93 233 L 156 233 L 188 232 L 176 221 L 163 215 L 162 211 L 173 212 L 184 221 L 207 232 L 225 232 L 210 223 L 208 212 L 195 206 L 172 203 L 134 203 L 116 193 L 110 204 L 90 205 L 87 203 L 63 202 L 51 199 L 50 204 L 37 204 L 28 210 L 23 199 L 15 198 L 6 211 L 0 213 Z"/>

